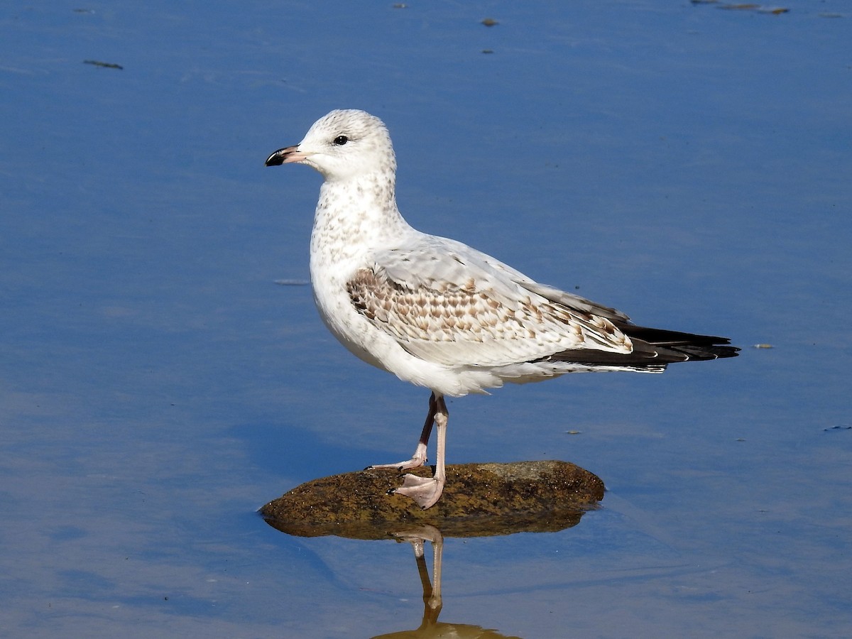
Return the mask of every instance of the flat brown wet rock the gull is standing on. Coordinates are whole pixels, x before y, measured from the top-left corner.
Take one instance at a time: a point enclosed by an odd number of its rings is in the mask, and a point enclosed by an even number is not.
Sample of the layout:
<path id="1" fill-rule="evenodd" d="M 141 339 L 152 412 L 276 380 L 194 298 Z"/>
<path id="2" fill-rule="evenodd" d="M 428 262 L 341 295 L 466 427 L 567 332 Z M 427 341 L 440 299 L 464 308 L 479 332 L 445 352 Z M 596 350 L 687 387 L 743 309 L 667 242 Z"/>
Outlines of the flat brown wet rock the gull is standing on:
<path id="1" fill-rule="evenodd" d="M 411 472 L 430 475 L 433 469 Z M 574 526 L 604 490 L 596 475 L 559 461 L 447 466 L 444 494 L 426 510 L 388 494 L 399 485 L 394 469 L 332 475 L 296 486 L 261 513 L 271 526 L 302 537 L 375 539 L 422 524 L 446 537 L 480 537 Z"/>

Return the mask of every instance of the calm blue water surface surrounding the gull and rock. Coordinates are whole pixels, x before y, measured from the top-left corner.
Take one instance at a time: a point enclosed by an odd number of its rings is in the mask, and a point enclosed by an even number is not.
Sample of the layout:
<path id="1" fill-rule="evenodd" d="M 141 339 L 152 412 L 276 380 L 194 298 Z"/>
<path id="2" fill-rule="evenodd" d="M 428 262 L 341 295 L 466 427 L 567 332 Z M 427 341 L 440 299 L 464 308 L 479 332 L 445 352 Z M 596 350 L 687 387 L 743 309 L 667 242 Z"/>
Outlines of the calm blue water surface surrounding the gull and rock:
<path id="1" fill-rule="evenodd" d="M 567 459 L 609 492 L 562 533 L 447 539 L 441 619 L 847 634 L 848 8 L 406 4 L 0 14 L 0 629 L 417 627 L 411 550 L 254 515 L 411 452 L 425 411 L 297 284 L 319 177 L 262 166 L 360 107 L 415 226 L 746 347 L 454 400 L 451 462 Z"/>

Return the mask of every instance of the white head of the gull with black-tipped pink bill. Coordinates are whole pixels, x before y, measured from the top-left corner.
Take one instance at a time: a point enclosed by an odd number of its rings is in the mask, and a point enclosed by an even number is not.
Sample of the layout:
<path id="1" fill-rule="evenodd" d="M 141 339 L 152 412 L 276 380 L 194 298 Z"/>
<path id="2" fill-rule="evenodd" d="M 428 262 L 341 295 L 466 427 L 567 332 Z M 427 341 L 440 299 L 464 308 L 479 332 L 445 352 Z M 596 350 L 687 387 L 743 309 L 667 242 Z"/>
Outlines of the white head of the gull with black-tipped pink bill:
<path id="1" fill-rule="evenodd" d="M 382 120 L 354 109 L 332 111 L 320 118 L 294 147 L 280 148 L 267 166 L 307 164 L 325 181 L 385 174 L 396 170 L 394 147 Z"/>

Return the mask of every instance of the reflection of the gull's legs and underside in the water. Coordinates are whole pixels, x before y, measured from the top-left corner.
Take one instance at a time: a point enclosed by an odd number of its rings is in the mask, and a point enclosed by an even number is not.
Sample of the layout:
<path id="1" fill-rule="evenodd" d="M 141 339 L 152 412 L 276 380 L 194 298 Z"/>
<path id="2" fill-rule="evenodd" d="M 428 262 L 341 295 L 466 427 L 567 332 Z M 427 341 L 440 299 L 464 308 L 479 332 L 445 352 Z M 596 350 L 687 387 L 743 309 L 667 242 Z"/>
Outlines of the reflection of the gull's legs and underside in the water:
<path id="1" fill-rule="evenodd" d="M 449 624 L 438 621 L 443 602 L 440 596 L 440 570 L 444 554 L 444 538 L 434 526 L 423 525 L 400 533 L 393 533 L 400 541 L 412 544 L 417 561 L 417 574 L 423 584 L 423 621 L 416 630 L 400 630 L 373 639 L 520 639 L 517 636 L 501 635 L 497 630 L 488 630 L 481 625 Z M 426 566 L 425 545 L 432 544 L 432 579 Z"/>

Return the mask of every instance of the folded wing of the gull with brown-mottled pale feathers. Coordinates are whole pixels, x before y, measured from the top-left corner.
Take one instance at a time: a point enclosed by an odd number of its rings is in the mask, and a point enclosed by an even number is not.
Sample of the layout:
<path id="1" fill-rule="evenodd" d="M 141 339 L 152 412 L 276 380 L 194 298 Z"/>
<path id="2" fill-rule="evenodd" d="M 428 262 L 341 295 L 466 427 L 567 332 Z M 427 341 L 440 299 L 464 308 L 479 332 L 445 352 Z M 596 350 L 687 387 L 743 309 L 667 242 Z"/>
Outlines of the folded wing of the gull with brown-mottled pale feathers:
<path id="1" fill-rule="evenodd" d="M 569 360 L 574 350 L 630 354 L 633 348 L 607 318 L 625 317 L 617 311 L 538 285 L 450 239 L 418 234 L 406 245 L 374 251 L 369 263 L 348 281 L 354 307 L 423 360 L 509 366 L 556 354 Z"/>

